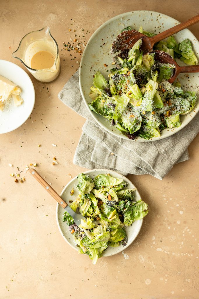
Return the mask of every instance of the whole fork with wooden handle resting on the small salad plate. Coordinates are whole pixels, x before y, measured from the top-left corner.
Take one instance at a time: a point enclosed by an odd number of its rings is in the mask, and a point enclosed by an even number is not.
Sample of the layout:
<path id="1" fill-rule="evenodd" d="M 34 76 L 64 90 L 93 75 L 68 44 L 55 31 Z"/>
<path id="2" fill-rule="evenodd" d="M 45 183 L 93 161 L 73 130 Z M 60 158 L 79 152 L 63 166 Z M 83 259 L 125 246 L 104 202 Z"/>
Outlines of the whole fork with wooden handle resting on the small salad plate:
<path id="1" fill-rule="evenodd" d="M 40 176 L 40 174 L 36 172 L 35 169 L 30 168 L 29 172 L 41 184 L 41 186 L 43 186 L 48 191 L 48 193 L 58 202 L 58 204 L 61 205 L 62 208 L 64 208 L 64 210 L 66 210 L 70 214 L 70 216 L 72 216 L 77 226 L 81 224 L 82 219 L 86 220 L 86 218 L 81 214 L 75 213 L 69 207 L 69 205 L 67 205 L 67 203 L 58 195 L 58 193 Z"/>

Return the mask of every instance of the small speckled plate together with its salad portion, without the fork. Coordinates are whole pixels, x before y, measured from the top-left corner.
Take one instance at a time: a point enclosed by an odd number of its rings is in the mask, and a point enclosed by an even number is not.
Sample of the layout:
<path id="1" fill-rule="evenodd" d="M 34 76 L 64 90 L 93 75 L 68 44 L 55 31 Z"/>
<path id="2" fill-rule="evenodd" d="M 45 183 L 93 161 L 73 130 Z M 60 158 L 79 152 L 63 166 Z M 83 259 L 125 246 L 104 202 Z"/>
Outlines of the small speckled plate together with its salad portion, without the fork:
<path id="1" fill-rule="evenodd" d="M 72 247 L 87 254 L 93 264 L 99 257 L 129 246 L 149 211 L 132 182 L 114 171 L 81 173 L 67 184 L 61 196 L 72 210 L 86 217 L 78 227 L 58 205 L 61 234 Z"/>

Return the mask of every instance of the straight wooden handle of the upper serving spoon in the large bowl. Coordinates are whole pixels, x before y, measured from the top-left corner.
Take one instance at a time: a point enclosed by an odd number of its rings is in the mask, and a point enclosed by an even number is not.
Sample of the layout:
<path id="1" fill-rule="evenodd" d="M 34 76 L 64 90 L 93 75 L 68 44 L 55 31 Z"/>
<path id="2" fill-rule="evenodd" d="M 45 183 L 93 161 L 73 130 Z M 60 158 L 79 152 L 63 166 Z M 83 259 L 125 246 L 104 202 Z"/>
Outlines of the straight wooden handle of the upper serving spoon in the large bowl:
<path id="1" fill-rule="evenodd" d="M 182 22 L 172 28 L 169 28 L 168 30 L 165 30 L 165 31 L 151 37 L 150 39 L 151 39 L 152 47 L 156 42 L 159 42 L 159 41 L 173 35 L 174 33 L 177 33 L 177 32 L 179 32 L 191 25 L 194 25 L 195 23 L 198 23 L 198 22 L 199 22 L 199 15 L 194 16 L 193 18 L 187 20 L 186 22 Z"/>

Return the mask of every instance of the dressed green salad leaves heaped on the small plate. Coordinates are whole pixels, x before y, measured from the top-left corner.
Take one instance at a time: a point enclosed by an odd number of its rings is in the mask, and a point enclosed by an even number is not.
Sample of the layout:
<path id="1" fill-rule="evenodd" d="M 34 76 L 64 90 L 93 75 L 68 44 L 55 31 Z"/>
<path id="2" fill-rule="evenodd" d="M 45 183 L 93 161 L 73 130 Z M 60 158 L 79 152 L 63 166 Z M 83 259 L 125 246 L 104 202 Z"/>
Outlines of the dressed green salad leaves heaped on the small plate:
<path id="1" fill-rule="evenodd" d="M 109 174 L 99 174 L 92 179 L 89 175 L 78 175 L 78 198 L 70 201 L 70 208 L 86 217 L 79 227 L 68 212 L 63 221 L 69 225 L 79 252 L 88 254 L 96 264 L 104 250 L 127 245 L 125 227 L 148 213 L 148 205 L 143 200 L 135 201 L 135 190 L 128 189 L 122 178 Z M 73 194 L 74 192 L 72 192 Z"/>

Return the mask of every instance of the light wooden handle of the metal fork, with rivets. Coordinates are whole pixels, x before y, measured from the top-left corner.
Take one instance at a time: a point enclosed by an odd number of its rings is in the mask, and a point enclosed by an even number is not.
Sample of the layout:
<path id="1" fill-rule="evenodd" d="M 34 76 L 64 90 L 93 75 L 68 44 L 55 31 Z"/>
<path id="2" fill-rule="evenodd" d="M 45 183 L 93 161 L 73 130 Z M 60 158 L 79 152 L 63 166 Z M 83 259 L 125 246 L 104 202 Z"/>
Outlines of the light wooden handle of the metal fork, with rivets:
<path id="1" fill-rule="evenodd" d="M 59 194 L 36 172 L 35 169 L 30 168 L 30 173 L 35 177 L 35 179 L 43 186 L 48 193 L 62 206 L 62 208 L 66 208 L 67 203 L 59 196 Z"/>

